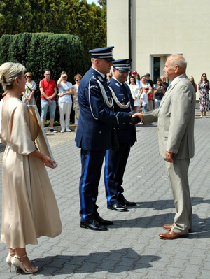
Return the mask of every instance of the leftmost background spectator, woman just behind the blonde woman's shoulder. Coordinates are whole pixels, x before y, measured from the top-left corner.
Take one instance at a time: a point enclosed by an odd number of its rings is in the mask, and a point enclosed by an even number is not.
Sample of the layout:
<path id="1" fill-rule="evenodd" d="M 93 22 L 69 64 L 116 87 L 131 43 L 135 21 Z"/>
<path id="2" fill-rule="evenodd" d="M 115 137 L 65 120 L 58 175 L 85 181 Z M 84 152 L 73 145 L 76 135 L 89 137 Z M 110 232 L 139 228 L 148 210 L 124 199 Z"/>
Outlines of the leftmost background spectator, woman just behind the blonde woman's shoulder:
<path id="1" fill-rule="evenodd" d="M 36 83 L 34 80 L 31 80 L 32 74 L 30 72 L 25 73 L 25 78 L 27 82 L 25 84 L 25 92 L 22 92 L 22 101 L 24 103 L 27 103 L 27 105 L 36 105 L 36 101 L 34 98 Z"/>

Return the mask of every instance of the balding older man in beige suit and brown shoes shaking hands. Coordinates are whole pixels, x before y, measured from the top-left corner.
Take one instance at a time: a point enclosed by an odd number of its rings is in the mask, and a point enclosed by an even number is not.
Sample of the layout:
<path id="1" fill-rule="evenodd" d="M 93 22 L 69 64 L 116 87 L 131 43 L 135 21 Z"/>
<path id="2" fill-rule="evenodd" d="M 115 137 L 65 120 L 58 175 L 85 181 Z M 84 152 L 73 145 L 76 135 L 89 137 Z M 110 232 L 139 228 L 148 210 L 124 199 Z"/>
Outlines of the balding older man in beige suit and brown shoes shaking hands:
<path id="1" fill-rule="evenodd" d="M 165 159 L 174 197 L 174 224 L 165 224 L 162 239 L 187 237 L 192 231 L 192 206 L 188 184 L 190 158 L 194 156 L 195 91 L 186 76 L 186 59 L 172 55 L 165 63 L 166 78 L 172 80 L 158 110 L 138 113 L 144 124 L 158 120 L 160 155 Z"/>

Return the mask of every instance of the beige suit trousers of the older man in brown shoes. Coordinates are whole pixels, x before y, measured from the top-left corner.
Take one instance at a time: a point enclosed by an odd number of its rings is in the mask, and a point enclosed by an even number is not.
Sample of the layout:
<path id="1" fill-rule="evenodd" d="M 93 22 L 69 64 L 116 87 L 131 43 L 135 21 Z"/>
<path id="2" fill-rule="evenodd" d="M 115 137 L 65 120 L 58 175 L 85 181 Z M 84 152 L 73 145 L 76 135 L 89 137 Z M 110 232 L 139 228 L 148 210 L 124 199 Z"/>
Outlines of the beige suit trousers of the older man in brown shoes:
<path id="1" fill-rule="evenodd" d="M 188 229 L 192 229 L 192 206 L 188 183 L 190 159 L 174 159 L 174 163 L 165 160 L 165 165 L 176 208 L 172 231 L 176 234 L 188 234 Z"/>

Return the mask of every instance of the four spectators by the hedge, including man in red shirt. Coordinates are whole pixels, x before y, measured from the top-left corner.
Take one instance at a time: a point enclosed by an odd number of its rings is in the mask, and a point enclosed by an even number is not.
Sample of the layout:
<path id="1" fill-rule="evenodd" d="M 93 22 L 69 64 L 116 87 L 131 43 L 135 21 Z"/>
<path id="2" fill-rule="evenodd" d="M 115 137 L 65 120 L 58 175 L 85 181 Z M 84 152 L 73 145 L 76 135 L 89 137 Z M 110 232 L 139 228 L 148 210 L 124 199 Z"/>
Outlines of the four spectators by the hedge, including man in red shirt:
<path id="1" fill-rule="evenodd" d="M 56 110 L 56 101 L 55 96 L 57 95 L 58 90 L 58 107 L 59 107 L 59 116 L 60 116 L 60 126 L 61 133 L 64 131 L 70 132 L 69 122 L 70 114 L 73 103 L 73 110 L 75 111 L 74 122 L 76 127 L 78 125 L 78 119 L 80 116 L 80 108 L 78 105 L 78 86 L 82 76 L 78 73 L 74 76 L 75 84 L 72 85 L 68 79 L 66 71 L 62 71 L 60 78 L 57 80 L 57 85 L 54 80 L 50 79 L 51 72 L 50 69 L 44 70 L 44 78 L 39 83 L 39 90 L 41 93 L 41 122 L 43 127 L 45 127 L 45 118 L 49 109 L 50 112 L 50 132 L 57 133 L 57 130 L 54 129 L 54 120 L 55 120 L 55 110 Z M 32 80 L 32 73 L 25 73 L 25 78 L 27 80 L 25 84 L 25 91 L 22 92 L 22 101 L 28 106 L 35 105 L 36 101 L 34 98 L 34 93 L 36 91 L 36 83 Z M 73 98 L 73 100 L 72 100 Z M 77 128 L 76 128 L 77 129 Z M 76 130 L 75 129 L 75 130 Z"/>

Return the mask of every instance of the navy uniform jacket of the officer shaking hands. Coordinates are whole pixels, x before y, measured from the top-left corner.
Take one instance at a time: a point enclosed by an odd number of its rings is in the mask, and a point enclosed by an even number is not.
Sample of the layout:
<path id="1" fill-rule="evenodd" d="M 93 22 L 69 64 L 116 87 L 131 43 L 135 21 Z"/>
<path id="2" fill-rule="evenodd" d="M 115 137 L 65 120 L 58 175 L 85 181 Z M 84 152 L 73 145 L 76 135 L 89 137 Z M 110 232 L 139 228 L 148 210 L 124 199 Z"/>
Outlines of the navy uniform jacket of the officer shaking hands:
<path id="1" fill-rule="evenodd" d="M 125 125 L 130 120 L 128 112 L 116 113 L 106 105 L 97 80 L 104 86 L 109 102 L 112 101 L 106 80 L 91 67 L 78 87 L 80 118 L 75 141 L 76 146 L 84 150 L 110 149 L 113 146 L 113 124 Z"/>

